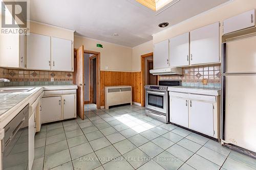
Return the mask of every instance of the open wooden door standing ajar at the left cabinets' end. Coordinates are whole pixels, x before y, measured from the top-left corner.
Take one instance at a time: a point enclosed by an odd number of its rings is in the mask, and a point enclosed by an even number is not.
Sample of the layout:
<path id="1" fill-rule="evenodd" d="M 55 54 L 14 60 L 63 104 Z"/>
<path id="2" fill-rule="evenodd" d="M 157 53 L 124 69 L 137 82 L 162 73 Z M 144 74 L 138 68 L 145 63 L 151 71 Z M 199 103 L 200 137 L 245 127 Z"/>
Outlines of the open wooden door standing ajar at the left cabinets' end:
<path id="1" fill-rule="evenodd" d="M 83 120 L 84 119 L 84 47 L 81 45 L 76 52 L 76 68 L 75 68 L 75 84 L 77 88 L 77 115 Z"/>

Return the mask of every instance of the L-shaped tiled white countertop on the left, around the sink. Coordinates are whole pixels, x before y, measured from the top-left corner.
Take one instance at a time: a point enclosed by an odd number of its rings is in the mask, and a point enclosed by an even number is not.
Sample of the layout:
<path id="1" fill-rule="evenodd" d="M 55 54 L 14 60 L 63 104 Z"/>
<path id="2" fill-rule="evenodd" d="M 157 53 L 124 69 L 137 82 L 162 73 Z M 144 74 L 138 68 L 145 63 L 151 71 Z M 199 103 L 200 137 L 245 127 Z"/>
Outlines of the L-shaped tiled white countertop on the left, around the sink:
<path id="1" fill-rule="evenodd" d="M 3 88 L 34 88 L 27 92 L 0 93 L 0 128 L 4 128 L 25 106 L 32 104 L 38 96 L 46 90 L 77 89 L 77 85 L 49 85 L 49 86 L 4 86 Z"/>

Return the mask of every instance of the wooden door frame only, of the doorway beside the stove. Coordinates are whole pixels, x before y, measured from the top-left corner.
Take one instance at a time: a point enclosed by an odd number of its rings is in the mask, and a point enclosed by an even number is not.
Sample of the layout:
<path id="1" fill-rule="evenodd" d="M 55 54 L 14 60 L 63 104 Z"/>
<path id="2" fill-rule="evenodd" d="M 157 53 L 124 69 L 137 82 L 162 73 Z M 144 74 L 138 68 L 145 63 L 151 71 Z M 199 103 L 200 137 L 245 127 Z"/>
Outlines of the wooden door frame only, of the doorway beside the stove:
<path id="1" fill-rule="evenodd" d="M 145 70 L 144 70 L 144 58 L 145 57 L 153 57 L 153 53 L 148 53 L 148 54 L 144 54 L 144 55 L 141 55 L 140 56 L 140 64 L 141 64 L 141 87 L 140 87 L 140 90 L 141 90 L 141 106 L 145 106 L 145 94 L 144 94 L 144 86 L 145 86 L 145 78 L 144 78 L 144 73 L 145 73 Z M 153 57 L 153 60 L 154 60 L 154 57 Z"/>

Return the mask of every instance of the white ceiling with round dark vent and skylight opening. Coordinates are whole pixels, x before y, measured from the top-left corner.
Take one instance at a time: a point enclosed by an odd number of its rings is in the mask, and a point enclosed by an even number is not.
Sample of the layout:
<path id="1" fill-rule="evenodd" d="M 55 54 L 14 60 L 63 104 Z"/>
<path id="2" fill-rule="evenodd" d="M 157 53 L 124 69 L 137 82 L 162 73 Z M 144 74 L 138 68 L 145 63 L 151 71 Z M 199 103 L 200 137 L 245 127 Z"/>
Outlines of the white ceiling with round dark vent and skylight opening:
<path id="1" fill-rule="evenodd" d="M 30 19 L 75 30 L 76 35 L 134 47 L 170 26 L 229 0 L 180 0 L 156 15 L 135 0 L 32 0 Z M 119 34 L 114 37 L 113 34 Z"/>

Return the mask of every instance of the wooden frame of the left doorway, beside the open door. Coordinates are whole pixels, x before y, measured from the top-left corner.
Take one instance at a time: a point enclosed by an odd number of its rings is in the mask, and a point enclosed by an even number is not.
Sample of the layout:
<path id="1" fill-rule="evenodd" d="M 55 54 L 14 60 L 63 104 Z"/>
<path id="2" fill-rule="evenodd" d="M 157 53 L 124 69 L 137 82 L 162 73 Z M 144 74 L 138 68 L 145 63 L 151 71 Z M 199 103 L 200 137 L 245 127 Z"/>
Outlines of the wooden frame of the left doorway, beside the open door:
<path id="1" fill-rule="evenodd" d="M 84 50 L 83 53 L 94 54 L 92 57 L 93 57 L 93 59 L 96 58 L 96 84 L 97 84 L 96 105 L 97 105 L 97 109 L 100 109 L 100 93 L 101 93 L 101 91 L 100 91 L 100 52 Z M 91 60 L 91 57 L 90 57 L 90 60 Z M 89 63 L 90 63 L 90 60 L 89 60 Z M 89 64 L 89 84 L 90 84 L 90 65 L 91 64 Z M 89 89 L 90 89 L 90 87 L 89 87 Z"/>

